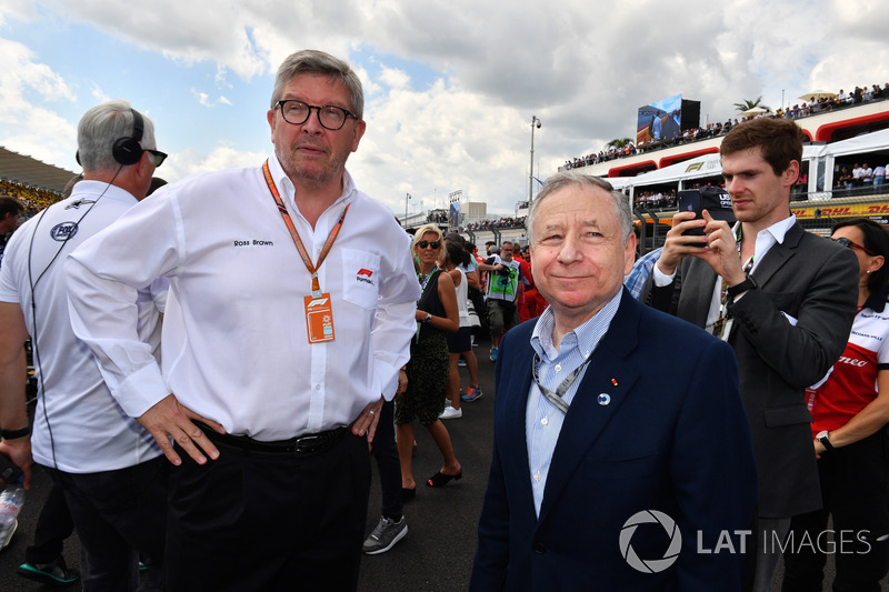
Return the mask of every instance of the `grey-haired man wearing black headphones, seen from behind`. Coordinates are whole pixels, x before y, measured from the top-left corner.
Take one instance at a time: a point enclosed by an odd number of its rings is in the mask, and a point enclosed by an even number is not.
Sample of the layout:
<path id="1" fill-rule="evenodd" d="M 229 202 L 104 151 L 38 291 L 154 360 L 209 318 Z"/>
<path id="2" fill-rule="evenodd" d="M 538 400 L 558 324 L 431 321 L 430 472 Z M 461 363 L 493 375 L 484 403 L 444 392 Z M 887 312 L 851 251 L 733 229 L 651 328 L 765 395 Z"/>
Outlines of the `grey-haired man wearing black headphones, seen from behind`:
<path id="1" fill-rule="evenodd" d="M 154 146 L 153 124 L 126 101 L 87 111 L 78 126 L 83 180 L 13 234 L 0 268 L 0 453 L 21 468 L 26 489 L 32 456 L 61 486 L 83 549 L 83 590 L 136 590 L 140 552 L 148 566 L 140 590 L 163 585 L 168 463 L 74 335 L 62 265 L 146 197 L 167 157 Z M 146 287 L 130 302 L 139 318 L 133 332 L 153 353 L 166 289 Z M 33 435 L 24 403 L 29 334 L 38 378 Z"/>

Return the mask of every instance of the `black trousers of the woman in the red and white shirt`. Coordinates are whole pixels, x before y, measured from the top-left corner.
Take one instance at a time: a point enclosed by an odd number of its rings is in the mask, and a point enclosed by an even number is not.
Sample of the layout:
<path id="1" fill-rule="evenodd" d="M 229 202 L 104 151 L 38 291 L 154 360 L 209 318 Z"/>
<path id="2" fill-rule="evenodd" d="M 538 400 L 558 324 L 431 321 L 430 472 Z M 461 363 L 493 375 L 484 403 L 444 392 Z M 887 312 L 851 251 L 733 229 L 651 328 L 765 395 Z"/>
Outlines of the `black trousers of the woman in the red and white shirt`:
<path id="1" fill-rule="evenodd" d="M 790 522 L 793 549 L 785 551 L 782 592 L 820 592 L 827 553 L 837 564 L 835 592 L 879 592 L 889 570 L 889 541 L 877 540 L 889 534 L 888 445 L 880 430 L 821 455 L 823 508 Z M 832 544 L 822 534 L 829 516 L 833 518 Z M 800 544 L 806 540 L 812 544 Z"/>

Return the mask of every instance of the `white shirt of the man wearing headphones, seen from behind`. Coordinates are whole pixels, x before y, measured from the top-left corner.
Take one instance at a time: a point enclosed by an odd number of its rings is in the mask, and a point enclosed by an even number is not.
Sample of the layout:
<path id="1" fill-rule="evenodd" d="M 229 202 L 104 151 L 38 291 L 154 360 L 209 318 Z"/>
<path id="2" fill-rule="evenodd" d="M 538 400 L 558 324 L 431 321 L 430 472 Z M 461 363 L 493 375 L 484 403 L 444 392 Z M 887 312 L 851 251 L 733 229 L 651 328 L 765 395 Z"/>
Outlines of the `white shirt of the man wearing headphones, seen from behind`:
<path id="1" fill-rule="evenodd" d="M 68 253 L 136 203 L 118 187 L 80 181 L 70 198 L 22 224 L 7 247 L 0 301 L 22 308 L 36 342 L 38 403 L 31 451 L 44 466 L 94 473 L 133 466 L 161 454 L 154 439 L 114 402 L 89 348 L 71 331 L 62 269 Z M 160 353 L 167 281 L 133 290 L 127 298 L 133 315 L 133 349 L 154 360 Z"/>

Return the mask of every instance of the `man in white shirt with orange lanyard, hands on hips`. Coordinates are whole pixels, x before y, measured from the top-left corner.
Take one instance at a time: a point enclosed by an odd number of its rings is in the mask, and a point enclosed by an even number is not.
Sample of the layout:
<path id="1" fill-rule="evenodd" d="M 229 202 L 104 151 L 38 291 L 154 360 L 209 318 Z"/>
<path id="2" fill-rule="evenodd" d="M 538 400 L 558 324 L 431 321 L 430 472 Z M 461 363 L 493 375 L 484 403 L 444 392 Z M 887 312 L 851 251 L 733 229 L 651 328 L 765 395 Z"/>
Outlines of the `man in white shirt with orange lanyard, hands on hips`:
<path id="1" fill-rule="evenodd" d="M 344 167 L 362 112 L 346 62 L 290 56 L 264 164 L 166 185 L 67 262 L 74 331 L 177 465 L 168 590 L 357 585 L 368 441 L 420 297 L 409 238 Z M 161 275 L 162 368 L 121 297 Z"/>

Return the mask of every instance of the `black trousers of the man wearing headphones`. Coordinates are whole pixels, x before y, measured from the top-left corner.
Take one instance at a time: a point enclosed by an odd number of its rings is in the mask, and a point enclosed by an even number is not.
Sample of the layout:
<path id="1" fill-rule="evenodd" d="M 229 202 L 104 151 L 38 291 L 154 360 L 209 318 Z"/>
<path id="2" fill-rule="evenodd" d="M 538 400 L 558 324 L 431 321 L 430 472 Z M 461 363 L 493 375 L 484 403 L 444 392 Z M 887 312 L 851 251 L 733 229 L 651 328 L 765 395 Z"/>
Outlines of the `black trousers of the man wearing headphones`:
<path id="1" fill-rule="evenodd" d="M 80 536 L 84 591 L 163 589 L 167 522 L 164 456 L 116 471 L 67 473 L 47 469 L 64 492 Z M 148 568 L 139 584 L 139 556 Z"/>

